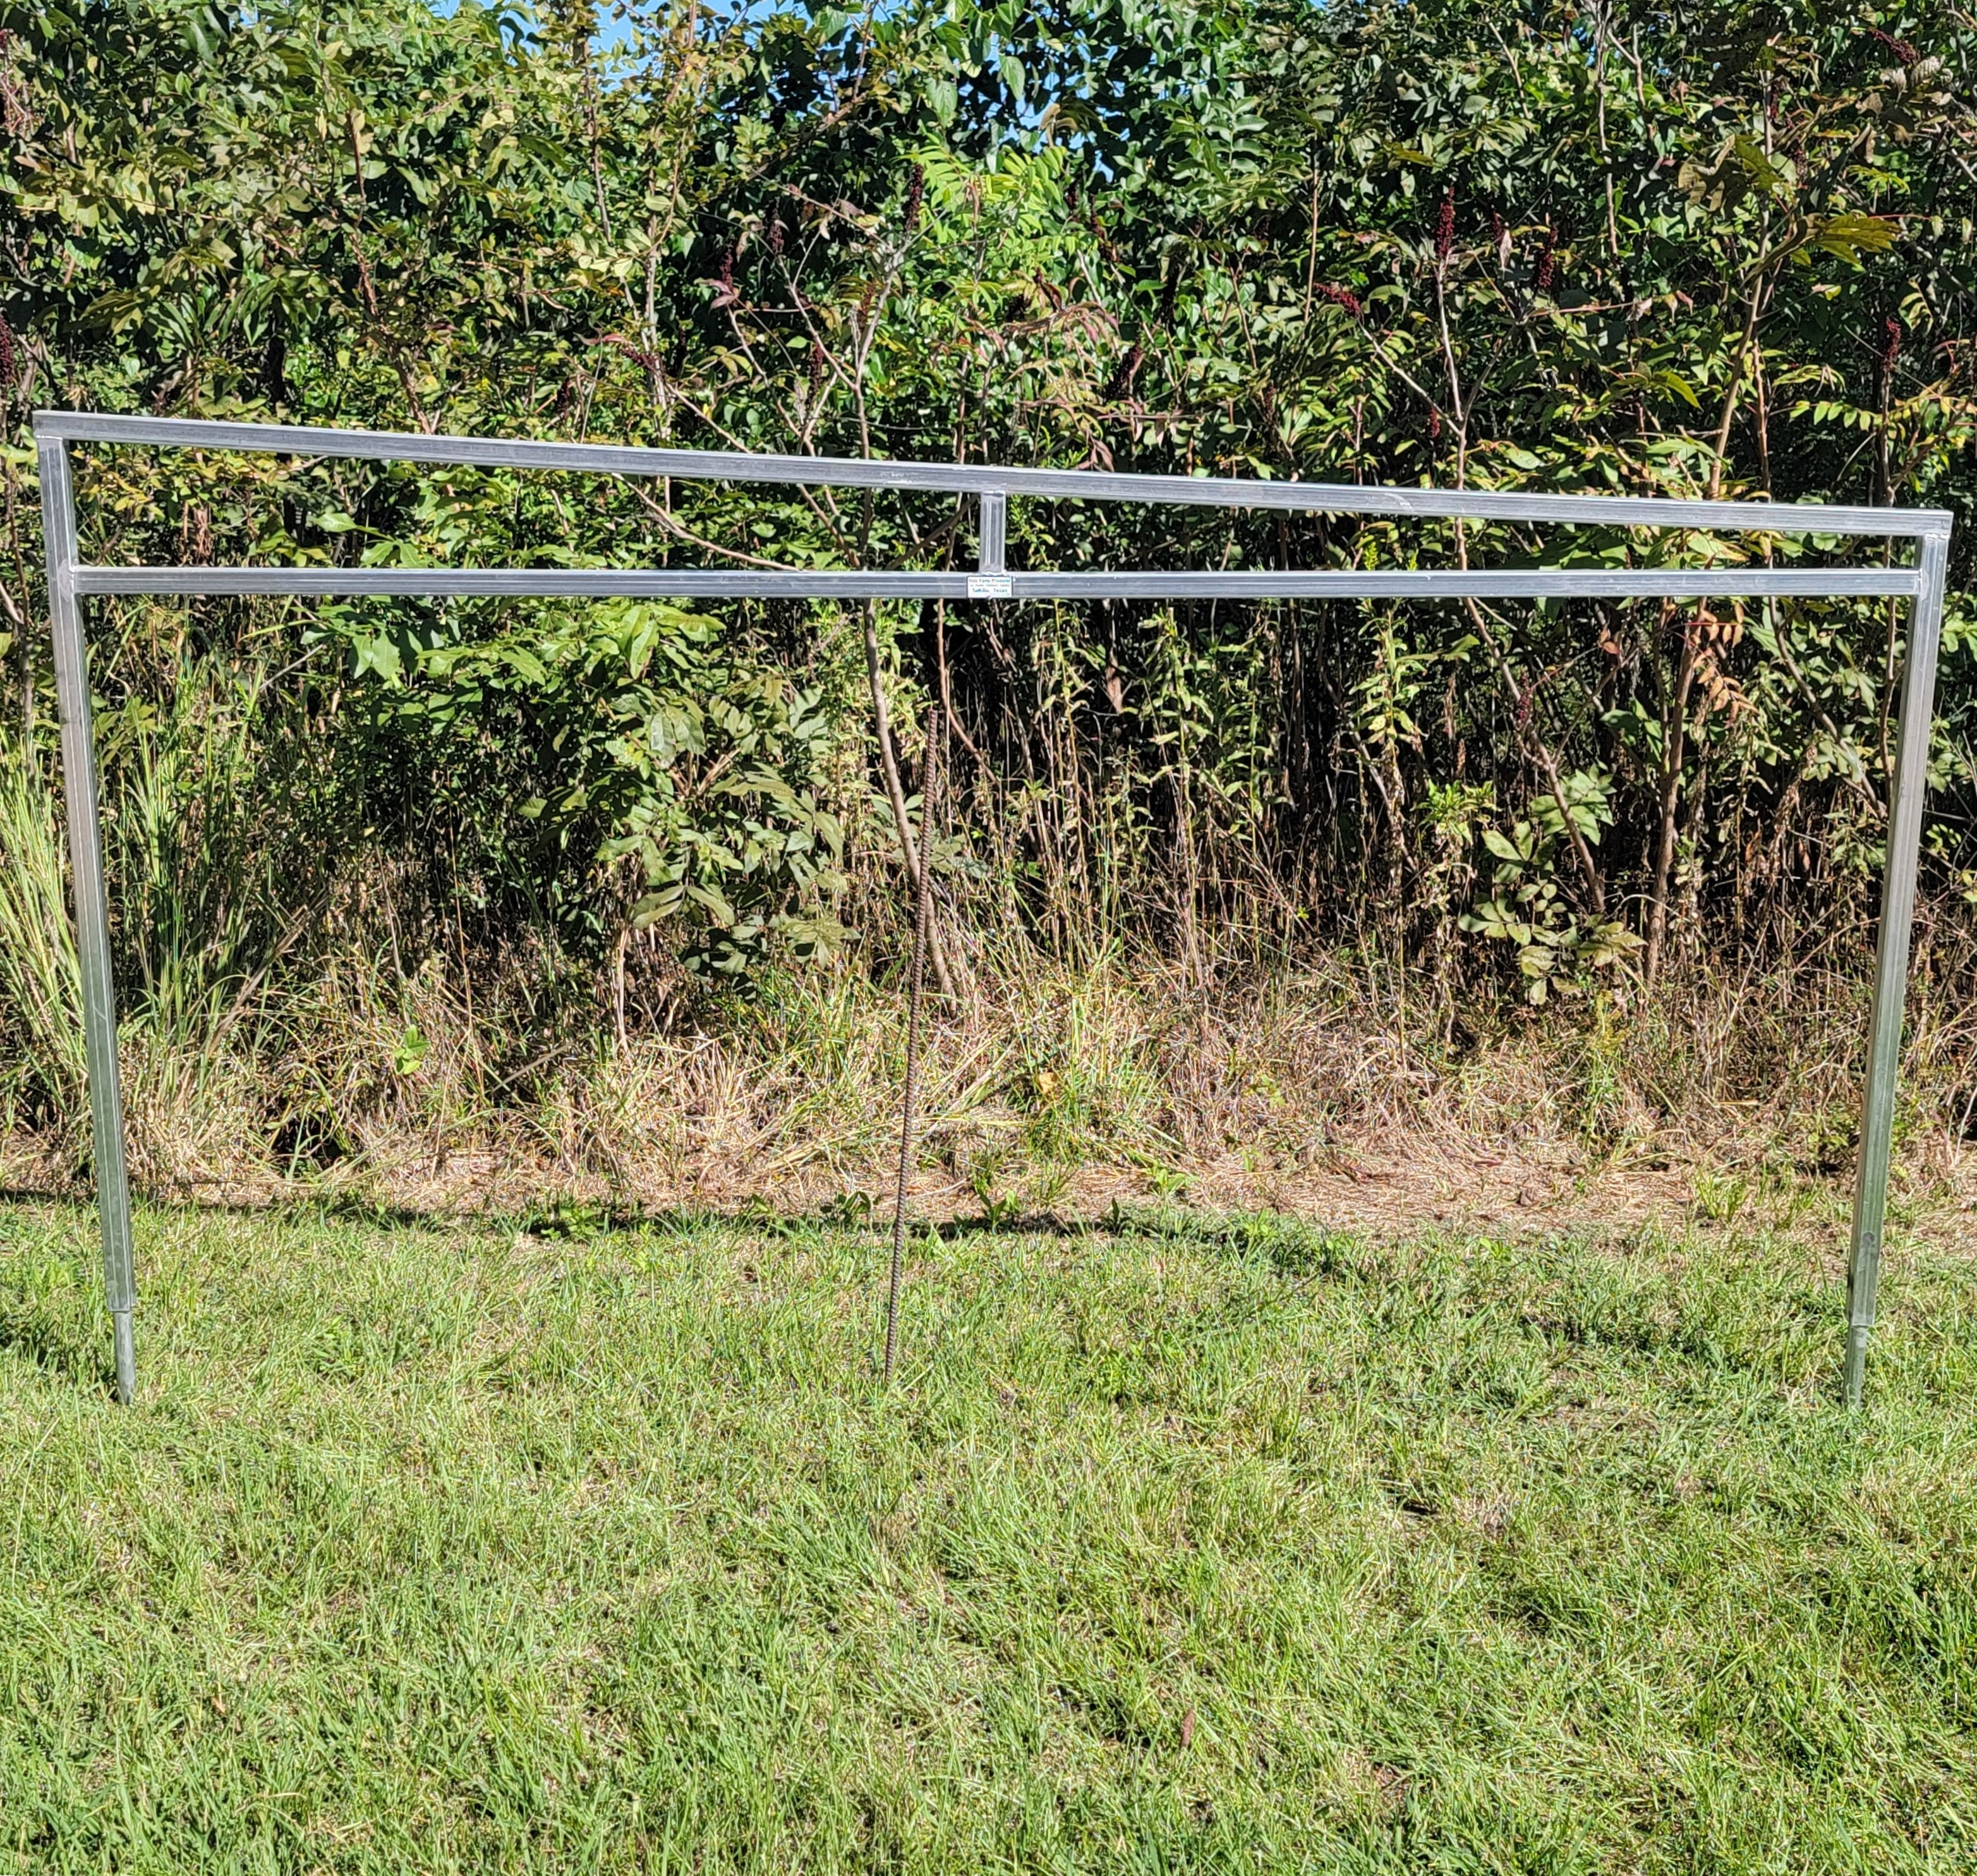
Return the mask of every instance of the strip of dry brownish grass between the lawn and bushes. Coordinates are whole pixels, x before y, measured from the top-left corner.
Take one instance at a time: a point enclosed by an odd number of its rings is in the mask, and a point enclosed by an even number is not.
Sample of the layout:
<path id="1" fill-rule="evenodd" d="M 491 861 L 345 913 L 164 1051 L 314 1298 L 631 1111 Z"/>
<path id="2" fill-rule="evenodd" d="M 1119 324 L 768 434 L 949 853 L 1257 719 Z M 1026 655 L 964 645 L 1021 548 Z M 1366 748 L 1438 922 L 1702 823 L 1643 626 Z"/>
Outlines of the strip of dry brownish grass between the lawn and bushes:
<path id="1" fill-rule="evenodd" d="M 1827 1192 L 1845 1220 L 1864 1004 L 1819 977 L 1700 975 L 1655 1004 L 1457 1010 L 1404 977 L 1317 957 L 1202 986 L 1149 961 L 1048 967 L 973 953 L 925 1052 L 915 1208 L 1095 1216 L 1188 1198 L 1382 1236 L 1588 1230 Z M 1924 984 L 1928 984 L 1924 973 Z M 1971 1038 L 1916 998 L 1908 1204 L 1959 1230 Z M 903 1006 L 848 961 L 700 1024 L 546 1042 L 504 1062 L 439 969 L 346 965 L 233 1054 L 127 1048 L 132 1166 L 160 1196 L 336 1196 L 417 1210 L 884 1204 Z M 409 1030 L 423 1060 L 409 1066 Z M 0 1139 L 0 1178 L 71 1190 L 81 1117 Z M 1801 1204 L 1793 1200 L 1793 1204 Z"/>

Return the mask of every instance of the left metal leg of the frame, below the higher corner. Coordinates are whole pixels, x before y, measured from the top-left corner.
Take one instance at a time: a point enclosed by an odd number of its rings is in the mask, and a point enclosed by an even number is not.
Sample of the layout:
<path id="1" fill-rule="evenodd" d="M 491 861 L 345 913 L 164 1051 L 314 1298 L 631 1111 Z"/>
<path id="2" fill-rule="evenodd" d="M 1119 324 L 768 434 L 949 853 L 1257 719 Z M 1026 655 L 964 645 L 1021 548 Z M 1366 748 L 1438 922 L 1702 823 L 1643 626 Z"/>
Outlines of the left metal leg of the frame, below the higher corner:
<path id="1" fill-rule="evenodd" d="M 89 652 L 75 593 L 75 492 L 65 443 L 42 439 L 42 530 L 47 544 L 47 619 L 55 635 L 61 698 L 61 769 L 67 783 L 69 864 L 75 874 L 75 949 L 83 973 L 83 1050 L 95 1129 L 97 1210 L 103 1218 L 103 1293 L 117 1328 L 117 1400 L 136 1392 L 136 1259 L 130 1247 L 130 1180 L 117 1079 L 117 996 L 111 986 L 111 913 L 103 890 L 97 810 L 97 745 L 89 718 Z"/>

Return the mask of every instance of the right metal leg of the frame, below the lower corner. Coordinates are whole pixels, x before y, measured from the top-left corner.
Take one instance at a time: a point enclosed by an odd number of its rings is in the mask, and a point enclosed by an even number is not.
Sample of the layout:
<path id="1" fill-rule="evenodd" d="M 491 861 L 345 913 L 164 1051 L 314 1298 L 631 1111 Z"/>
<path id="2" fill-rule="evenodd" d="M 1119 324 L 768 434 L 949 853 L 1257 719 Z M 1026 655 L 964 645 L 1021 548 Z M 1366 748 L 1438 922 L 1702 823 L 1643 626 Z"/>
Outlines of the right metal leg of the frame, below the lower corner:
<path id="1" fill-rule="evenodd" d="M 1902 1067 L 1902 1016 L 1908 1002 L 1908 939 L 1916 917 L 1916 864 L 1922 809 L 1930 789 L 1930 737 L 1935 722 L 1935 650 L 1943 637 L 1943 581 L 1949 530 L 1922 536 L 1922 589 L 1908 611 L 1908 670 L 1902 678 L 1902 739 L 1888 803 L 1888 858 L 1880 892 L 1880 947 L 1874 965 L 1874 1016 L 1866 1044 L 1866 1093 L 1860 1101 L 1860 1172 L 1854 1186 L 1852 1255 L 1847 1265 L 1847 1406 L 1860 1406 L 1866 1338 L 1880 1287 L 1880 1241 L 1888 1218 L 1888 1154 L 1894 1141 L 1894 1093 Z"/>

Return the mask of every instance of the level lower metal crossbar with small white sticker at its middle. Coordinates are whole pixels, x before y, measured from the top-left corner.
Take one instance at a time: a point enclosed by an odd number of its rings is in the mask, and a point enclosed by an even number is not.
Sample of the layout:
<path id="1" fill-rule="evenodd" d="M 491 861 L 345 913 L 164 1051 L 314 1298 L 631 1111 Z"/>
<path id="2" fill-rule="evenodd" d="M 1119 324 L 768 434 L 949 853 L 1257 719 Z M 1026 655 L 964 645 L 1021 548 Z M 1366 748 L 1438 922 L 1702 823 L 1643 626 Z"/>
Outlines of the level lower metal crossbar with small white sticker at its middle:
<path id="1" fill-rule="evenodd" d="M 1908 597 L 1912 567 L 1427 573 L 846 573 L 722 567 L 77 567 L 79 593 L 453 599 L 1758 599 Z"/>

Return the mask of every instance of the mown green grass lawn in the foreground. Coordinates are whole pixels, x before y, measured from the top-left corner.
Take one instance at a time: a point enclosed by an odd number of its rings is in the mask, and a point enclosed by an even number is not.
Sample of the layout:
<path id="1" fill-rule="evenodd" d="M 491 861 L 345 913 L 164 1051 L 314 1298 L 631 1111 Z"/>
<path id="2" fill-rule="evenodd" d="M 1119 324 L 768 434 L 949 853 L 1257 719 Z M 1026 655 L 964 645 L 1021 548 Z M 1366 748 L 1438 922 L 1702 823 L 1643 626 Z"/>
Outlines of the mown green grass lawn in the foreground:
<path id="1" fill-rule="evenodd" d="M 0 1208 L 0 1868 L 1977 1868 L 1977 1271 Z"/>

